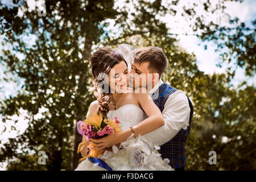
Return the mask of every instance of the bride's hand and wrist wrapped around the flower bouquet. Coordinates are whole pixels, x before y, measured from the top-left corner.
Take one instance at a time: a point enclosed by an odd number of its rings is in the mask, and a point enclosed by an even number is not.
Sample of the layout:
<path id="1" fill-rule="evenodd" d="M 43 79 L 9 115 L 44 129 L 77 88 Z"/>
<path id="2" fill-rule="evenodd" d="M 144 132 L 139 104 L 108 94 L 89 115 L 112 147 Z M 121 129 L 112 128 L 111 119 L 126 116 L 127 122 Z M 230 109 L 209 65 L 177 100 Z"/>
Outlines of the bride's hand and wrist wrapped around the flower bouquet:
<path id="1" fill-rule="evenodd" d="M 119 144 L 122 142 L 122 133 L 113 133 L 108 135 L 107 137 L 101 139 L 93 139 L 90 138 L 90 143 L 93 144 L 94 147 L 90 147 L 94 150 L 104 150 L 106 148 L 110 148 L 112 146 L 119 147 Z"/>

